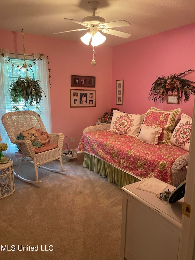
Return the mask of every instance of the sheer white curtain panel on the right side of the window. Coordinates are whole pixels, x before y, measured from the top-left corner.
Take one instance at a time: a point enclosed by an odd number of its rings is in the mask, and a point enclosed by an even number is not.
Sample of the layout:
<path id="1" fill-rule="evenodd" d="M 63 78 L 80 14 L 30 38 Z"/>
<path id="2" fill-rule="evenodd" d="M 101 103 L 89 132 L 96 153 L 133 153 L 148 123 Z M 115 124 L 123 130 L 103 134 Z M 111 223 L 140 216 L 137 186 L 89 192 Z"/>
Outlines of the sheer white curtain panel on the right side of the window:
<path id="1" fill-rule="evenodd" d="M 34 53 L 35 60 L 37 60 L 40 55 L 40 53 Z M 35 66 L 36 78 L 39 78 L 39 80 L 41 81 L 41 88 L 45 92 L 45 95 L 43 93 L 42 100 L 40 102 L 41 119 L 43 120 L 47 132 L 51 133 L 50 84 L 47 56 L 42 55 L 41 60 L 37 60 Z"/>

